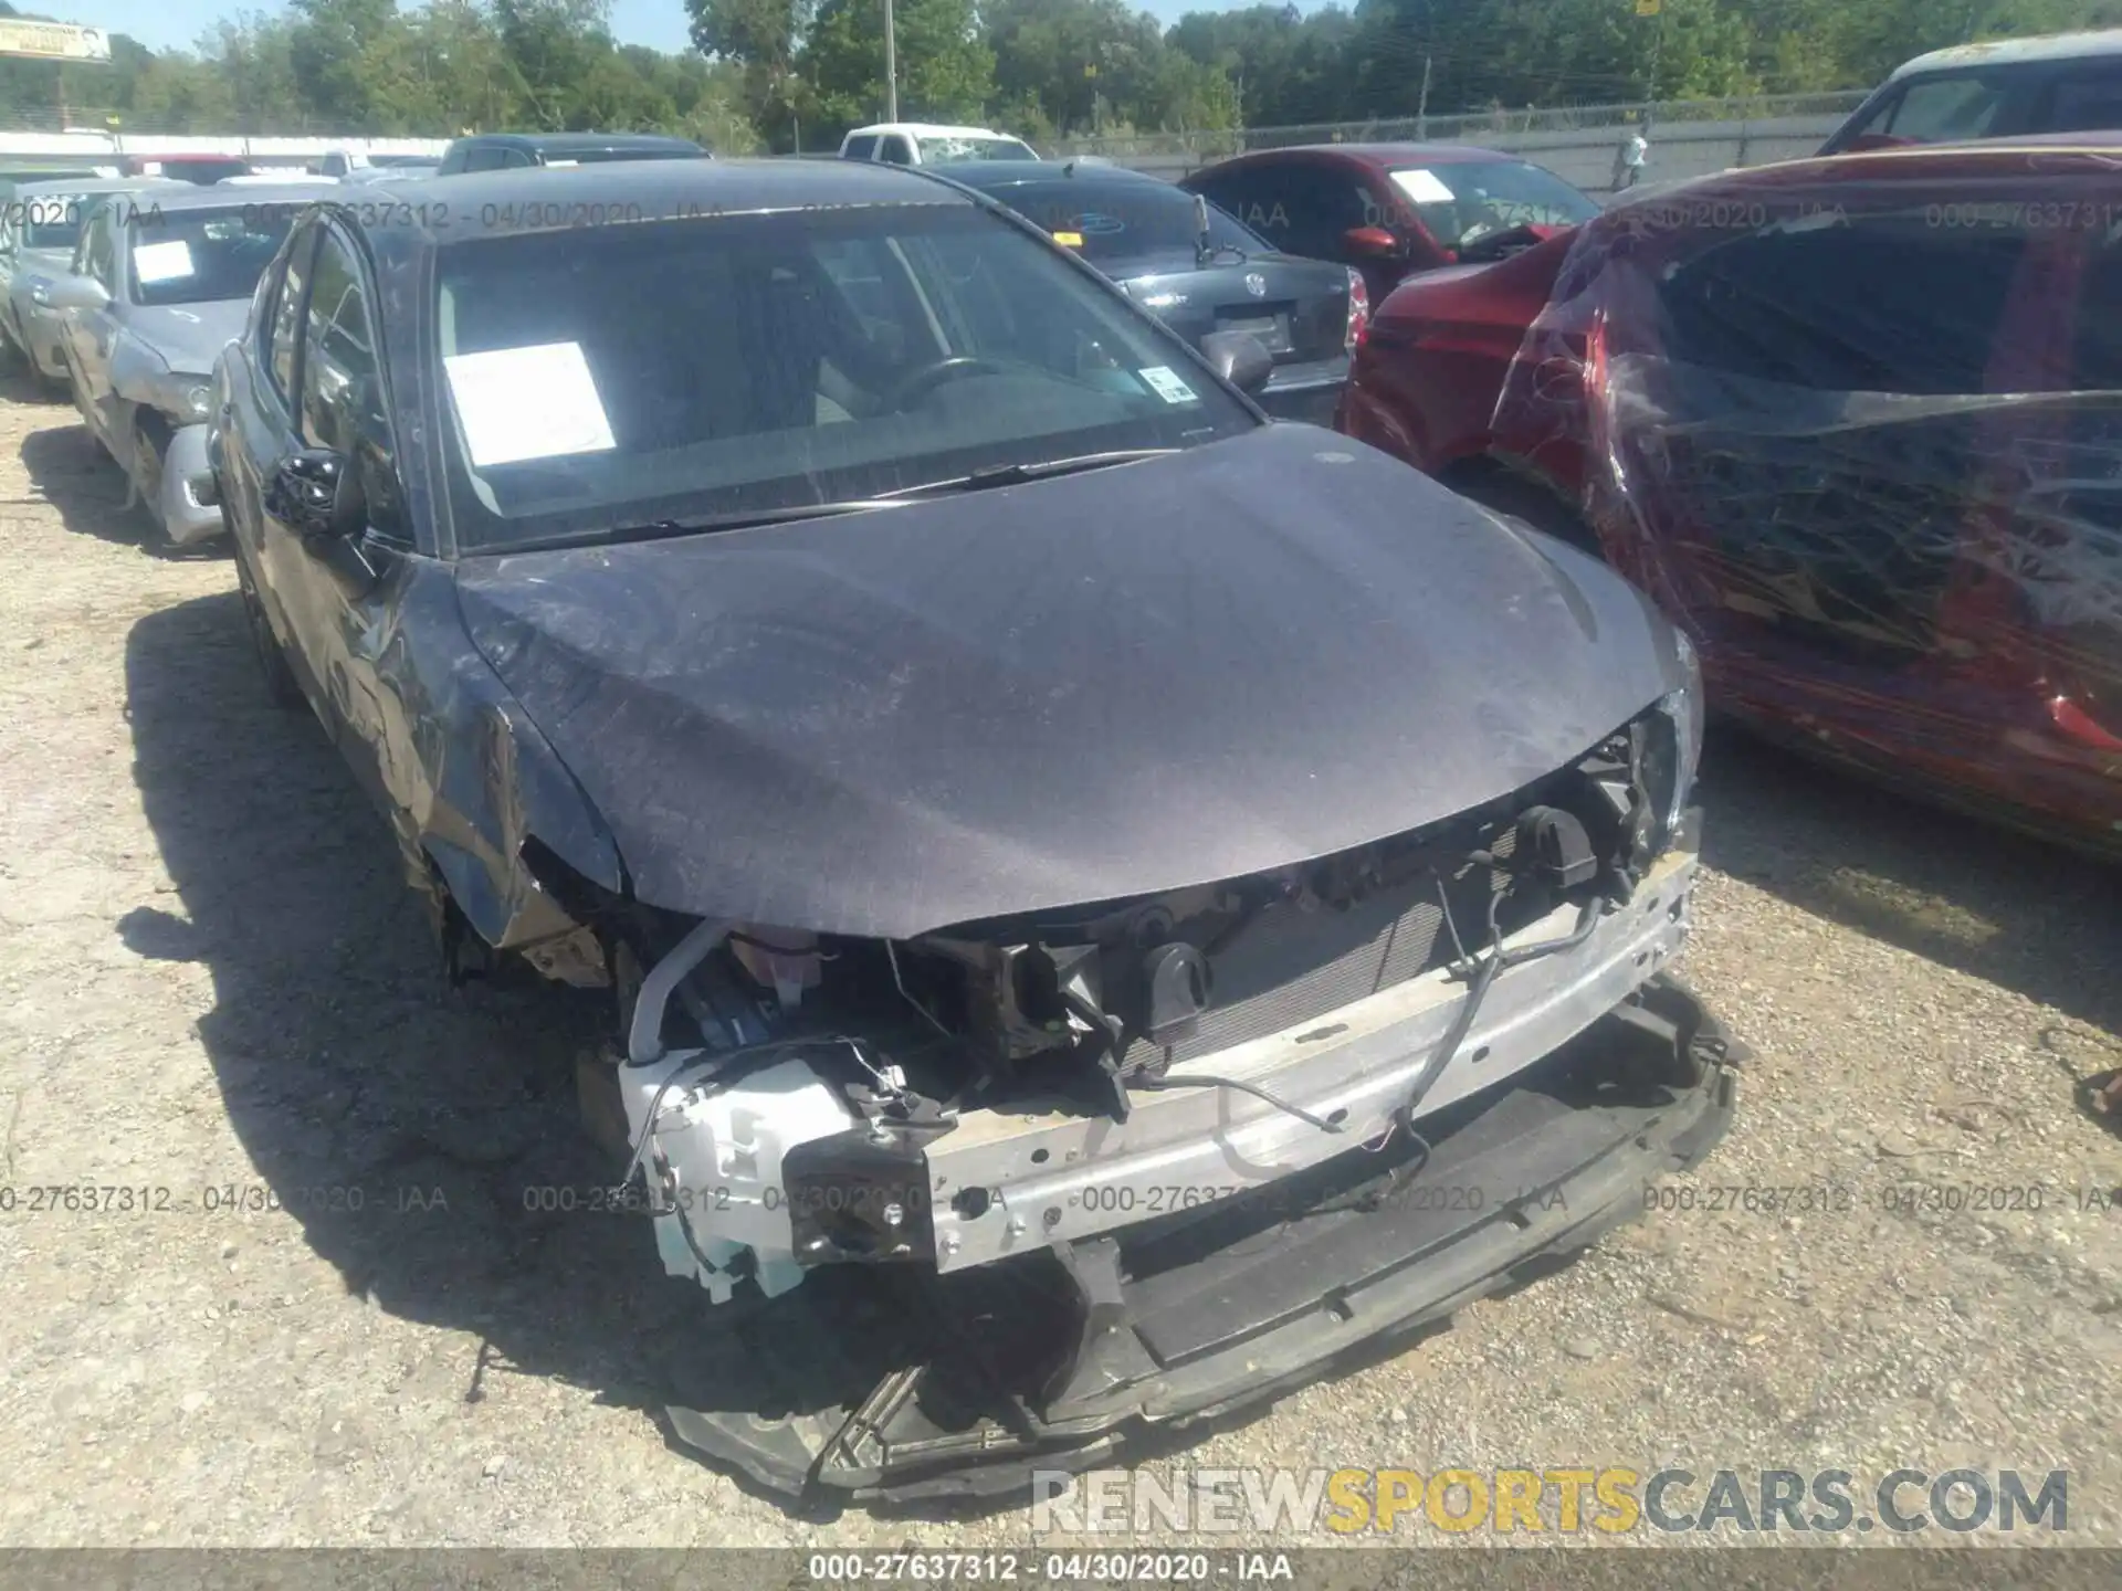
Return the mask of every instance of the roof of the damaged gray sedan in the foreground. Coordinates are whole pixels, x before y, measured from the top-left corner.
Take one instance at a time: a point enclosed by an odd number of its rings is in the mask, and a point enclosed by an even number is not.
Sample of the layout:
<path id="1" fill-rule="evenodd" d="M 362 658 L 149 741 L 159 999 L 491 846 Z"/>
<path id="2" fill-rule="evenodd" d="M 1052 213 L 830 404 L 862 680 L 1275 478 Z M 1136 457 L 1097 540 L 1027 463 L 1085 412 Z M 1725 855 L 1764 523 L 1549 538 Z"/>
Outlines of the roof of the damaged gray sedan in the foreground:
<path id="1" fill-rule="evenodd" d="M 314 197 L 346 189 L 320 182 Z M 403 204 L 373 195 L 401 193 Z M 862 208 L 900 204 L 976 204 L 910 165 L 881 161 L 615 161 L 507 172 L 460 172 L 418 180 L 365 185 L 342 214 L 376 235 L 414 235 L 427 246 L 475 242 L 497 233 L 564 231 L 586 214 L 618 223 L 685 221 L 775 210 Z"/>

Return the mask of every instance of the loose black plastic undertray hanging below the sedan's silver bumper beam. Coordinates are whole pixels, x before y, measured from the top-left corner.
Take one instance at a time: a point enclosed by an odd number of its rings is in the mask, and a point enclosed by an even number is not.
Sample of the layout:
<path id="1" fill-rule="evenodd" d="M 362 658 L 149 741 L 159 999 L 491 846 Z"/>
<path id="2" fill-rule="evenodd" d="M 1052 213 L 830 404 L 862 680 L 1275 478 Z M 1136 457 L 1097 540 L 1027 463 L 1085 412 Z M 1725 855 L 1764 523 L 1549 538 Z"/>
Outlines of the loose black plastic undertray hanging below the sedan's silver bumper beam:
<path id="1" fill-rule="evenodd" d="M 1424 1118 L 1420 1148 L 959 1275 L 823 1271 L 685 1360 L 673 1432 L 792 1498 L 1023 1491 L 1033 1468 L 1203 1428 L 1587 1247 L 1723 1137 L 1736 1061 L 1653 978 Z"/>

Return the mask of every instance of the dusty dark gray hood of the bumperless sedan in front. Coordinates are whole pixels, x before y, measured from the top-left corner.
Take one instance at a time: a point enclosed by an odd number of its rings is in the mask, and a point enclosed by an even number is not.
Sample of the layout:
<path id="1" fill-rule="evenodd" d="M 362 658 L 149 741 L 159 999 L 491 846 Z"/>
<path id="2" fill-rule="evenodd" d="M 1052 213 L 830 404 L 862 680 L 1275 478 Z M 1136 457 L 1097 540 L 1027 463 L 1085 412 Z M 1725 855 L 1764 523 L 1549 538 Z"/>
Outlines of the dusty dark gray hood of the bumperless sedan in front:
<path id="1" fill-rule="evenodd" d="M 1619 577 L 1297 424 L 456 583 L 645 902 L 832 933 L 1381 840 L 1681 683 Z"/>

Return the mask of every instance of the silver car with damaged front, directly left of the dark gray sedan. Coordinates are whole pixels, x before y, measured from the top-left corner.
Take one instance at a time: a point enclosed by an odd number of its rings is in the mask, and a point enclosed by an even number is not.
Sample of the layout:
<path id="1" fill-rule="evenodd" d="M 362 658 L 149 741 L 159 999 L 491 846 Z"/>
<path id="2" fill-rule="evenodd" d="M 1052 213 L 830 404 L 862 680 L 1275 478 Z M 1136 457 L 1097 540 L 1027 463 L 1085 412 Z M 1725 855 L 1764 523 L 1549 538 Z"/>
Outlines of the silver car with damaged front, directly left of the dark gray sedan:
<path id="1" fill-rule="evenodd" d="M 74 407 L 176 545 L 221 532 L 206 467 L 214 359 L 242 331 L 289 223 L 333 187 L 176 182 L 102 199 L 72 272 L 36 289 L 59 318 Z"/>

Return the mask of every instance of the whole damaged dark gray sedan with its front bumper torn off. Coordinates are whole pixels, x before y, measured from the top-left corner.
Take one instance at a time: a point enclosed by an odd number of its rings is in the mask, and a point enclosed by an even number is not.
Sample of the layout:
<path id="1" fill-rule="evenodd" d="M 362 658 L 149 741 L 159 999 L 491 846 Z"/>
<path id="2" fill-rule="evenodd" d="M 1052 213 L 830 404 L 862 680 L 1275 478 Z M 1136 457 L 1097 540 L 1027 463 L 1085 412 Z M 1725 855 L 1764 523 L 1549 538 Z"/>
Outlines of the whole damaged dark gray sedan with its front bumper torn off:
<path id="1" fill-rule="evenodd" d="M 1267 369 L 834 161 L 327 199 L 221 361 L 267 683 L 452 969 L 613 991 L 671 1426 L 764 1485 L 1256 1404 L 1725 1131 L 1685 641 Z"/>

